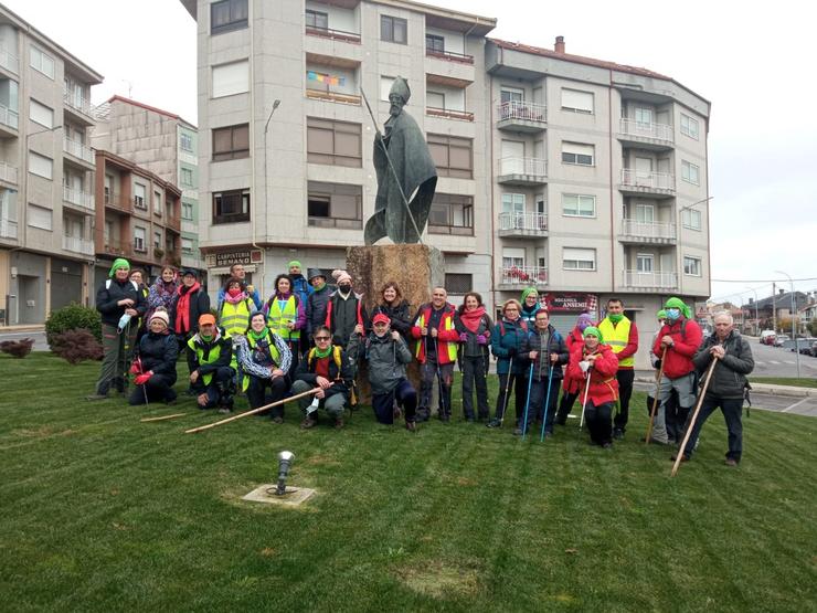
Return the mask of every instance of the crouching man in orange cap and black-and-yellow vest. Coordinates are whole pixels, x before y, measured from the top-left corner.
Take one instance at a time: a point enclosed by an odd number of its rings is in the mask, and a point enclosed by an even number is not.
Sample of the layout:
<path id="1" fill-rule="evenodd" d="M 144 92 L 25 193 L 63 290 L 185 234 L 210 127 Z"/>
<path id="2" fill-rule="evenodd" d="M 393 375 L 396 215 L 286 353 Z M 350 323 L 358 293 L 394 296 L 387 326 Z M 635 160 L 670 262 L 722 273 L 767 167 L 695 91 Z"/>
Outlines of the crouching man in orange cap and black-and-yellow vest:
<path id="1" fill-rule="evenodd" d="M 190 387 L 199 409 L 219 408 L 222 413 L 233 410 L 235 371 L 230 367 L 233 341 L 215 327 L 215 317 L 205 313 L 199 317 L 199 331 L 188 340 Z"/>

